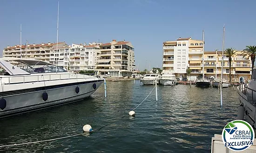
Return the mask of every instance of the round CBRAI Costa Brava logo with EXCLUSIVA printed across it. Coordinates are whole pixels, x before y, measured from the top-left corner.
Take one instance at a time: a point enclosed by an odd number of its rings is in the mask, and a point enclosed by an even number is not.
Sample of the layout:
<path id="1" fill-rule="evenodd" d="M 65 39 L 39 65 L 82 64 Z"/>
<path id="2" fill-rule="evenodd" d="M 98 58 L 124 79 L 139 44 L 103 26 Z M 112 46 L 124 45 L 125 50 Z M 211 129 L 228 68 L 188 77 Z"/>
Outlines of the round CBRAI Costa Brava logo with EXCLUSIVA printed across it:
<path id="1" fill-rule="evenodd" d="M 224 146 L 233 151 L 243 151 L 253 144 L 254 130 L 244 120 L 233 120 L 222 130 Z"/>

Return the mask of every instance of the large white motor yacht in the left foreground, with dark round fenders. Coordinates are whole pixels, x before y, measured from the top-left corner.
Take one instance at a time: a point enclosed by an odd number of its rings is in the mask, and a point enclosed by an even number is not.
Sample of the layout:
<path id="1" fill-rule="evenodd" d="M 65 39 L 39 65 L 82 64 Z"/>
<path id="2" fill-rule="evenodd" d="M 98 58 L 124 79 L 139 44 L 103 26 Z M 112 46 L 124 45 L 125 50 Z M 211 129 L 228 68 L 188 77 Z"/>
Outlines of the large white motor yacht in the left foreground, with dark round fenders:
<path id="1" fill-rule="evenodd" d="M 0 67 L 0 117 L 82 100 L 104 81 L 41 60 L 0 58 Z"/>

